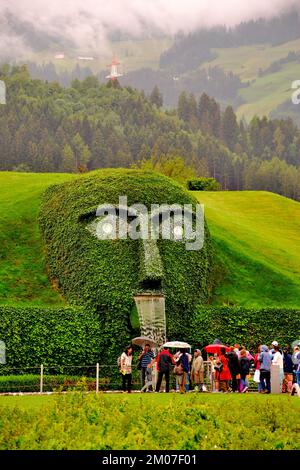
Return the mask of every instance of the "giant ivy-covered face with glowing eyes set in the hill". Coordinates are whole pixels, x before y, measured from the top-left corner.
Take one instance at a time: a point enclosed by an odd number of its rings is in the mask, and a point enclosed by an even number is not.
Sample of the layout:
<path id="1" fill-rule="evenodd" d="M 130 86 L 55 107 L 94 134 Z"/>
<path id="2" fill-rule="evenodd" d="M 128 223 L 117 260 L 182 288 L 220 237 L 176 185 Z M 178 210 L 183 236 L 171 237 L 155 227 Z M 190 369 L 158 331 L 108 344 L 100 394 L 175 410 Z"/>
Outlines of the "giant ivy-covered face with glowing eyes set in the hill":
<path id="1" fill-rule="evenodd" d="M 207 301 L 209 233 L 205 228 L 198 251 L 187 249 L 184 233 L 174 226 L 173 239 L 125 239 L 114 222 L 125 218 L 135 231 L 135 214 L 99 212 L 99 206 L 118 208 L 121 196 L 129 207 L 143 204 L 149 213 L 151 204 L 196 203 L 172 180 L 139 170 L 101 170 L 50 187 L 40 214 L 50 277 L 67 301 L 96 308 L 108 329 L 117 318 L 120 329 L 130 329 L 134 295 L 149 291 L 165 294 L 167 321 L 179 321 Z"/>

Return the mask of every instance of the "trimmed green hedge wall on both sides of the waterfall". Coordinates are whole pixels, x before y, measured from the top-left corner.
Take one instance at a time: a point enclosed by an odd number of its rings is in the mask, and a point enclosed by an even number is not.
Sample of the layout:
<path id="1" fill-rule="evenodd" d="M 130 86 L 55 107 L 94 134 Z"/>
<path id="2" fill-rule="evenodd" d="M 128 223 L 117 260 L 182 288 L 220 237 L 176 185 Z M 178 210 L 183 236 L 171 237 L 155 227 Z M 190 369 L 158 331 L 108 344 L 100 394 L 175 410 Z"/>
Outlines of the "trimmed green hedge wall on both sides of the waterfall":
<path id="1" fill-rule="evenodd" d="M 6 343 L 7 367 L 116 365 L 130 336 L 112 337 L 112 349 L 106 355 L 101 324 L 97 313 L 80 307 L 0 306 L 0 340 Z M 170 340 L 185 340 L 201 348 L 219 338 L 228 345 L 245 344 L 254 352 L 259 344 L 274 339 L 284 345 L 300 338 L 300 311 L 198 307 L 189 321 L 169 316 L 167 334 Z M 113 373 L 117 372 L 116 365 Z M 6 373 L 6 367 L 0 366 L 0 374 Z"/>

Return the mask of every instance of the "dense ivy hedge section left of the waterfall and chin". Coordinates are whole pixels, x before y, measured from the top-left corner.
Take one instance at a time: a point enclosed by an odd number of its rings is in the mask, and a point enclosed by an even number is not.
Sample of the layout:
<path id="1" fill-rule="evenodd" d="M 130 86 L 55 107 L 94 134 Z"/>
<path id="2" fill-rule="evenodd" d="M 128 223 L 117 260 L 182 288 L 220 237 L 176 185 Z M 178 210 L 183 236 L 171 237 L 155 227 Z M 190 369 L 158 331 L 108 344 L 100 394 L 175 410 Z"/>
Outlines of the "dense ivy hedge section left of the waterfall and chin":
<path id="1" fill-rule="evenodd" d="M 90 310 L 0 306 L 7 367 L 96 364 L 100 336 L 98 315 Z M 0 367 L 2 374 L 5 369 Z"/>

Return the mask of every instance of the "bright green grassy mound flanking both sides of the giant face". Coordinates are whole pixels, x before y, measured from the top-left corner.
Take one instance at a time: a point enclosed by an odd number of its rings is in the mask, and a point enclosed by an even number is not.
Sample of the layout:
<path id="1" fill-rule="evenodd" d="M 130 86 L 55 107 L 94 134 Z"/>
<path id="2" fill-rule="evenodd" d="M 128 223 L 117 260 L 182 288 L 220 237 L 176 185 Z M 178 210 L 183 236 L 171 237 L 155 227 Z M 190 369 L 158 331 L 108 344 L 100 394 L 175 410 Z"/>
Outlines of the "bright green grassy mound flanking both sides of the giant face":
<path id="1" fill-rule="evenodd" d="M 37 225 L 42 192 L 74 175 L 0 173 L 0 302 L 57 305 Z M 216 256 L 215 303 L 299 306 L 300 204 L 265 192 L 196 193 Z"/>

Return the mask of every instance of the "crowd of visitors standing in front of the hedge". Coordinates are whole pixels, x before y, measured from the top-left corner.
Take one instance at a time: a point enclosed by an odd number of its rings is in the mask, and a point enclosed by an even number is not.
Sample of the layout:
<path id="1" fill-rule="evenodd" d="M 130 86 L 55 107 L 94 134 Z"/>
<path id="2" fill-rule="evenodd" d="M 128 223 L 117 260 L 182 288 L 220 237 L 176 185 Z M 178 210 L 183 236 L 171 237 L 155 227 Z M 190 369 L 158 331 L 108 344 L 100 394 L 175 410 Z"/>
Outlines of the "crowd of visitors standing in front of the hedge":
<path id="1" fill-rule="evenodd" d="M 122 389 L 131 392 L 132 388 L 132 346 L 128 346 L 119 360 L 122 373 Z M 254 369 L 253 380 L 258 384 L 259 393 L 271 392 L 272 364 L 277 364 L 280 373 L 280 387 L 283 393 L 291 393 L 293 384 L 300 387 L 300 346 L 292 350 L 289 346 L 280 348 L 277 341 L 273 341 L 270 348 L 259 346 L 256 354 L 252 355 L 244 346 L 221 346 L 218 352 L 209 355 L 206 364 L 209 369 L 207 377 L 211 392 L 220 393 L 246 393 L 249 390 L 250 370 Z M 156 386 L 153 390 L 152 368 L 156 367 Z M 149 344 L 146 344 L 138 357 L 137 367 L 141 375 L 142 392 L 159 392 L 163 378 L 165 391 L 170 390 L 171 372 L 176 378 L 176 390 L 180 393 L 194 390 L 207 391 L 204 381 L 205 362 L 199 349 L 195 349 L 193 356 L 186 349 L 177 350 L 171 354 L 168 347 L 155 356 Z"/>

